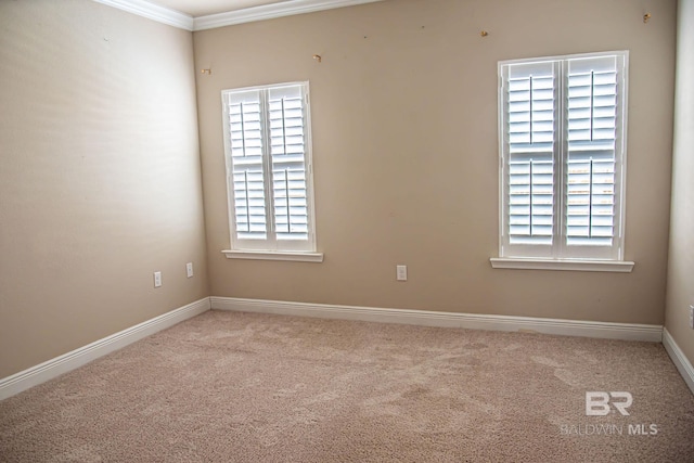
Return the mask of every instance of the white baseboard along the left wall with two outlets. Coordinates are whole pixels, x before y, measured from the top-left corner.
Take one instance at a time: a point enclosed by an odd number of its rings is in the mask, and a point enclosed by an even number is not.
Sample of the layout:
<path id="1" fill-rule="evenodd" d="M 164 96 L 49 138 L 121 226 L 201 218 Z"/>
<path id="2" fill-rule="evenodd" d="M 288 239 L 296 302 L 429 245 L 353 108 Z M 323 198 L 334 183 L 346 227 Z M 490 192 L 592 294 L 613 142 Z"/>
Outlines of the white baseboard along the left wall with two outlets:
<path id="1" fill-rule="evenodd" d="M 209 310 L 209 297 L 99 339 L 70 352 L 0 380 L 0 400 L 82 366 L 129 344 Z"/>

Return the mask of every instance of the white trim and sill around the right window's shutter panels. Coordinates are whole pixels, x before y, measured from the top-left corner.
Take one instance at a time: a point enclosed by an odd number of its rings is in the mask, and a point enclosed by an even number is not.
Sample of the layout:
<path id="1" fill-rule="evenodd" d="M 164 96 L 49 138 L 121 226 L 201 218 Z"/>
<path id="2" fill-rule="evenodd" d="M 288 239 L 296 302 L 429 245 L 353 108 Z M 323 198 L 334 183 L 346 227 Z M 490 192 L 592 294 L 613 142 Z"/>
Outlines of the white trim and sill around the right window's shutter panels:
<path id="1" fill-rule="evenodd" d="M 566 244 L 567 235 L 562 229 L 556 229 L 554 233 L 555 243 L 545 248 L 545 253 L 519 255 L 519 253 L 510 252 L 509 247 L 509 204 L 507 204 L 507 189 L 506 181 L 509 152 L 505 143 L 507 142 L 507 132 L 504 123 L 506 120 L 506 107 L 505 95 L 502 93 L 505 88 L 505 73 L 504 67 L 513 64 L 532 64 L 532 63 L 552 63 L 552 65 L 560 70 L 557 75 L 558 87 L 556 90 L 556 99 L 558 105 L 555 107 L 556 120 L 555 130 L 558 131 L 558 137 L 555 139 L 555 143 L 558 146 L 555 147 L 555 154 L 557 156 L 555 162 L 558 162 L 560 166 L 555 169 L 555 176 L 558 179 L 554 185 L 554 195 L 557 197 L 558 203 L 555 204 L 554 227 L 564 227 L 564 216 L 566 214 L 566 205 L 564 204 L 564 195 L 566 194 L 566 172 L 565 166 L 568 149 L 567 139 L 565 136 L 567 124 L 567 108 L 565 106 L 566 98 L 566 78 L 569 60 L 603 57 L 603 56 L 617 56 L 621 61 L 621 65 L 618 65 L 618 85 L 621 89 L 617 93 L 618 105 L 621 108 L 618 115 L 619 120 L 616 127 L 617 140 L 615 152 L 616 165 L 618 171 L 615 172 L 615 229 L 614 240 L 615 244 L 609 248 L 605 248 L 604 254 L 595 253 L 594 256 L 581 255 L 576 253 L 573 255 L 565 254 L 565 249 L 568 247 Z M 498 63 L 498 137 L 499 137 L 499 249 L 498 256 L 490 258 L 492 268 L 505 268 L 505 269 L 542 269 L 542 270 L 578 270 L 578 271 L 618 271 L 630 272 L 633 269 L 634 262 L 626 261 L 625 258 L 625 226 L 626 226 L 626 178 L 627 178 L 627 119 L 628 119 L 628 93 L 629 93 L 629 51 L 607 51 L 595 53 L 580 53 L 580 54 L 567 54 L 557 56 L 542 56 L 530 57 L 519 60 L 506 60 Z M 558 175 L 557 175 L 558 172 Z M 561 240 L 556 242 L 556 240 Z M 534 245 L 516 245 L 516 249 L 520 249 L 524 246 L 532 247 Z M 540 245 L 538 245 L 540 246 Z M 538 247 L 539 249 L 540 247 Z"/>

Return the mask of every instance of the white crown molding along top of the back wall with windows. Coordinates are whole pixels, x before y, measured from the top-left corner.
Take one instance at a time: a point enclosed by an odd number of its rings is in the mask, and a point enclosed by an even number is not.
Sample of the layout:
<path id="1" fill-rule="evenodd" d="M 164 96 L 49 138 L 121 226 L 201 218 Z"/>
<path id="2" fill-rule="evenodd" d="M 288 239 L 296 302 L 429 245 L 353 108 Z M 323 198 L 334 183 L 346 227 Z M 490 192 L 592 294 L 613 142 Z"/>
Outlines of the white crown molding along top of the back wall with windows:
<path id="1" fill-rule="evenodd" d="M 232 26 L 234 24 L 273 20 L 275 17 L 312 13 L 363 3 L 374 3 L 377 1 L 383 0 L 288 0 L 280 3 L 230 11 L 228 13 L 195 17 L 193 20 L 193 30 L 214 29 L 216 27 Z"/>

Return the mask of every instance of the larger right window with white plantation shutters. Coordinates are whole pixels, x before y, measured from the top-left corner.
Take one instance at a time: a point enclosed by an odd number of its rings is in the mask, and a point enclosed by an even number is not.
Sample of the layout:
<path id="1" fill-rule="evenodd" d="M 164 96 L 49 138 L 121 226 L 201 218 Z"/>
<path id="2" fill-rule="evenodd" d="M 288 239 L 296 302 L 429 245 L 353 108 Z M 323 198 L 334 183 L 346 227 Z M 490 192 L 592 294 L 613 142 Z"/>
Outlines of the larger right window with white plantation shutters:
<path id="1" fill-rule="evenodd" d="M 622 260 L 627 69 L 628 52 L 499 63 L 501 258 Z"/>

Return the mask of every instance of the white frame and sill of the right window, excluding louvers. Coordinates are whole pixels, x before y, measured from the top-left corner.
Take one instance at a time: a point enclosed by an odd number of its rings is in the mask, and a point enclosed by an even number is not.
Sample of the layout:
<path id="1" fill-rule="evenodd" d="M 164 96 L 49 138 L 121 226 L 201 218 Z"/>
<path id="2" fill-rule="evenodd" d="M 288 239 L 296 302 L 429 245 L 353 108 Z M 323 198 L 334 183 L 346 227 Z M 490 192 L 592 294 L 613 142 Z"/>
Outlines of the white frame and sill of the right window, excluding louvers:
<path id="1" fill-rule="evenodd" d="M 567 191 L 568 183 L 568 66 L 580 65 L 587 59 L 609 59 L 614 57 L 617 63 L 617 119 L 615 138 L 615 162 L 614 162 L 614 229 L 612 245 L 568 245 L 567 236 Z M 549 153 L 544 151 L 541 156 L 550 156 L 552 159 L 549 167 L 549 176 L 552 177 L 551 188 L 547 195 L 551 195 L 552 216 L 544 226 L 544 233 L 550 228 L 549 241 L 551 244 L 540 244 L 542 239 L 530 237 L 527 243 L 522 239 L 516 239 L 515 243 L 511 237 L 511 216 L 510 216 L 510 110 L 507 105 L 509 97 L 509 73 L 514 65 L 535 67 L 551 67 L 554 76 L 552 91 L 553 97 L 553 119 L 548 120 L 548 130 L 552 130 L 552 143 Z M 617 271 L 628 272 L 633 268 L 633 262 L 624 260 L 624 224 L 625 224 L 625 196 L 626 196 L 626 142 L 627 142 L 627 97 L 628 97 L 628 68 L 629 52 L 615 51 L 604 53 L 586 53 L 563 56 L 550 56 L 528 60 L 502 61 L 498 64 L 499 75 L 499 258 L 491 258 L 494 268 L 506 269 L 556 269 L 556 270 L 584 270 L 584 271 Z M 547 70 L 543 70 L 547 73 Z M 547 74 L 545 74 L 547 75 Z M 591 93 L 591 98 L 592 93 Z M 591 110 L 591 124 L 592 124 Z M 551 127 L 553 126 L 553 128 Z M 532 127 L 532 126 L 530 126 Z M 534 130 L 530 128 L 530 130 Z M 592 125 L 591 125 L 592 130 Z M 532 142 L 531 142 L 532 143 Z M 543 149 L 545 150 L 545 149 Z M 576 151 L 574 151 L 576 153 Z M 532 156 L 532 155 L 530 155 Z M 583 154 L 584 156 L 584 154 Z M 548 166 L 548 163 L 544 163 Z M 591 157 L 590 165 L 593 165 Z M 548 168 L 548 167 L 545 167 Z M 592 176 L 591 176 L 592 177 Z M 558 179 L 558 181 L 557 181 Z M 534 183 L 530 180 L 530 183 Z M 592 192 L 592 188 L 590 188 Z M 530 190 L 532 191 L 532 190 Z M 592 193 L 591 193 L 592 195 Z M 532 196 L 530 196 L 532 197 Z M 592 196 L 591 196 L 592 197 Z M 530 200 L 532 202 L 532 200 Z M 590 201 L 591 205 L 592 200 Z M 592 206 L 591 206 L 592 207 Z M 590 215 L 590 213 L 589 213 Z M 530 209 L 530 216 L 534 216 Z M 592 215 L 590 215 L 592 220 Z M 530 218 L 530 223 L 532 219 Z M 532 230 L 532 224 L 530 226 Z M 514 235 L 518 236 L 518 234 Z M 576 239 L 574 239 L 576 241 Z"/>

